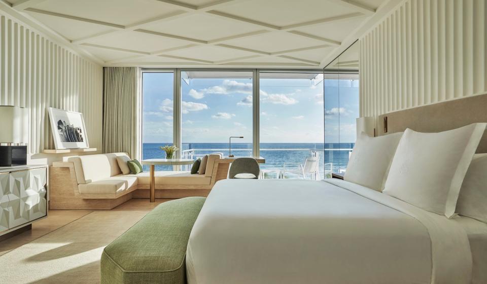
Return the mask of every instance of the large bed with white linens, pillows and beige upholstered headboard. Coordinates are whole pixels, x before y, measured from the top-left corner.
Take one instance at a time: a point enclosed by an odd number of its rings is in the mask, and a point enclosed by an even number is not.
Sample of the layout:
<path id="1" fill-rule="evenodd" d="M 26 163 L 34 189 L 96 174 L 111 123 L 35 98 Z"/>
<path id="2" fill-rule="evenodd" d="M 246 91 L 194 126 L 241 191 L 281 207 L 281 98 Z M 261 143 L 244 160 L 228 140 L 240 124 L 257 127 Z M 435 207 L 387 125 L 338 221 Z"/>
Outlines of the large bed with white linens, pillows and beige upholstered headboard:
<path id="1" fill-rule="evenodd" d="M 379 116 L 345 181 L 220 181 L 190 234 L 188 283 L 487 283 L 486 105 Z"/>

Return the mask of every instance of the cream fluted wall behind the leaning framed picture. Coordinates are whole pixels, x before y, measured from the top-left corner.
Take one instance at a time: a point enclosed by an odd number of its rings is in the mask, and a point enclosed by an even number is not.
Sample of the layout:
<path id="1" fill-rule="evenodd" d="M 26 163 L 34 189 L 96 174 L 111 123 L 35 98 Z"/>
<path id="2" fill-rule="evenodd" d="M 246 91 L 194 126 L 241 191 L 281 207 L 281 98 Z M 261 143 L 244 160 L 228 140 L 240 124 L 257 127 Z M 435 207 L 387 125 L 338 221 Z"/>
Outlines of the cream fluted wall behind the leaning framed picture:
<path id="1" fill-rule="evenodd" d="M 102 67 L 0 15 L 0 105 L 29 108 L 29 151 L 54 149 L 47 108 L 81 112 L 101 149 Z"/>

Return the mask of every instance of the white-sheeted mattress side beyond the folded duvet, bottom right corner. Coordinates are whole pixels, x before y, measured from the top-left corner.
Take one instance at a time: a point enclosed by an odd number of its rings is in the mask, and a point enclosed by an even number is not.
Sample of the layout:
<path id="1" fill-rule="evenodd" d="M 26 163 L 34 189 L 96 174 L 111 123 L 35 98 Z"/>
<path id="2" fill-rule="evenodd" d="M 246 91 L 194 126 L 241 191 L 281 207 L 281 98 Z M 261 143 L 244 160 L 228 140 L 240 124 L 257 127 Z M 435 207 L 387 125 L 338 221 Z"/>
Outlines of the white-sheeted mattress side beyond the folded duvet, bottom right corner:
<path id="1" fill-rule="evenodd" d="M 472 252 L 472 283 L 487 283 L 487 224 L 468 217 L 454 219 L 467 232 Z"/>

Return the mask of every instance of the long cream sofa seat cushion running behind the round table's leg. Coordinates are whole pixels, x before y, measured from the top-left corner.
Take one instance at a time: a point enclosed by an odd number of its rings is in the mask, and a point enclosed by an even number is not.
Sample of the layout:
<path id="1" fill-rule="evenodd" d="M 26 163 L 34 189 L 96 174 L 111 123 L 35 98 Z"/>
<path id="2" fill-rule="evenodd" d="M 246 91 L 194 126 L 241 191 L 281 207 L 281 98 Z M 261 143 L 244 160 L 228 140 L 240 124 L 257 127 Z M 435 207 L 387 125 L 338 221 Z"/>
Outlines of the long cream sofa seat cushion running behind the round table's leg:
<path id="1" fill-rule="evenodd" d="M 156 171 L 156 185 L 210 185 L 212 178 L 204 174 L 191 174 L 189 171 Z M 138 185 L 149 185 L 149 172 L 137 174 L 127 174 L 125 176 L 135 176 L 138 179 Z"/>

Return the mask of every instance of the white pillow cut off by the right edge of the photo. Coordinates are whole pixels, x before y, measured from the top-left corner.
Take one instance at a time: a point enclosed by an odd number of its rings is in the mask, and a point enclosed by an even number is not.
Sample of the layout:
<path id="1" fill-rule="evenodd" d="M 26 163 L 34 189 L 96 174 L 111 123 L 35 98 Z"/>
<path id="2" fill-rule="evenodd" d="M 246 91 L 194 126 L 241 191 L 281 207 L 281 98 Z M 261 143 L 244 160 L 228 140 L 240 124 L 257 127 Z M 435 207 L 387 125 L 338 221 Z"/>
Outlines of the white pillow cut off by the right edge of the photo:
<path id="1" fill-rule="evenodd" d="M 459 215 L 487 223 L 487 154 L 475 154 L 457 202 Z"/>

